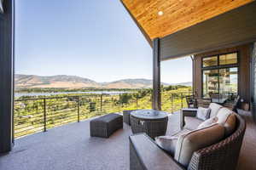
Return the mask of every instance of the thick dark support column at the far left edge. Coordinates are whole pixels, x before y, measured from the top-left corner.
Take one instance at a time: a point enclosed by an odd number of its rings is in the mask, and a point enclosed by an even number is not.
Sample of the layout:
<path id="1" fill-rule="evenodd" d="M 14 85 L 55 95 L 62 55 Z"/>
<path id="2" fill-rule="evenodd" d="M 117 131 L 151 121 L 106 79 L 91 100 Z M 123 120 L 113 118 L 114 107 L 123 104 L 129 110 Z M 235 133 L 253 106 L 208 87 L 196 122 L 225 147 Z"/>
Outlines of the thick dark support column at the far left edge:
<path id="1" fill-rule="evenodd" d="M 13 145 L 14 0 L 3 1 L 0 13 L 0 152 Z"/>

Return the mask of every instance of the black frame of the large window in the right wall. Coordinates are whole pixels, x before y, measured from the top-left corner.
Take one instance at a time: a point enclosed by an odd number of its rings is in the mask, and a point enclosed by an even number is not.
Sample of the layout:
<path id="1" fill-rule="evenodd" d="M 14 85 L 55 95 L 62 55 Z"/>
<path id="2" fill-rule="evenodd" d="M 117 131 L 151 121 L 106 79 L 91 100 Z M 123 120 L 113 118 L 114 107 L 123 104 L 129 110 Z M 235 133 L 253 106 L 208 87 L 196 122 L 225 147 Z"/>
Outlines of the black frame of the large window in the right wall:
<path id="1" fill-rule="evenodd" d="M 224 55 L 224 54 L 236 54 L 237 56 L 237 62 L 236 64 L 230 64 L 230 65 L 219 65 L 219 56 L 220 55 Z M 205 58 L 210 58 L 210 57 L 214 57 L 217 56 L 217 65 L 214 66 L 207 66 L 204 67 L 203 66 L 203 59 Z M 237 94 L 239 94 L 239 75 L 240 75 L 240 53 L 238 51 L 234 51 L 234 52 L 229 52 L 229 53 L 222 53 L 222 54 L 212 54 L 212 55 L 207 55 L 204 57 L 201 57 L 201 98 L 202 99 L 207 99 L 207 97 L 204 96 L 204 71 L 211 71 L 211 70 L 218 70 L 218 94 L 219 94 L 219 70 L 220 69 L 227 69 L 227 68 L 237 68 Z"/>

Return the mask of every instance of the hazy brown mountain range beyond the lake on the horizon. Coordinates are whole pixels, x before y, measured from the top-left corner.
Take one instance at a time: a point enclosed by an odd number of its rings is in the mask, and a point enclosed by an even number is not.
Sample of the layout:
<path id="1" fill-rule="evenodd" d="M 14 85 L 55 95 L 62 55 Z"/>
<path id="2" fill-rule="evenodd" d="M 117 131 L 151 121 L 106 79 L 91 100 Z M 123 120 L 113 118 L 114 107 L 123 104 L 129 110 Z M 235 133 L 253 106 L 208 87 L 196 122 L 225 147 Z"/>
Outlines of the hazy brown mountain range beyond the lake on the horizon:
<path id="1" fill-rule="evenodd" d="M 114 82 L 96 82 L 84 77 L 58 75 L 42 77 L 36 75 L 15 75 L 15 88 L 152 88 L 152 80 L 123 79 Z M 163 85 L 171 85 L 162 83 Z M 183 82 L 172 85 L 191 85 Z"/>

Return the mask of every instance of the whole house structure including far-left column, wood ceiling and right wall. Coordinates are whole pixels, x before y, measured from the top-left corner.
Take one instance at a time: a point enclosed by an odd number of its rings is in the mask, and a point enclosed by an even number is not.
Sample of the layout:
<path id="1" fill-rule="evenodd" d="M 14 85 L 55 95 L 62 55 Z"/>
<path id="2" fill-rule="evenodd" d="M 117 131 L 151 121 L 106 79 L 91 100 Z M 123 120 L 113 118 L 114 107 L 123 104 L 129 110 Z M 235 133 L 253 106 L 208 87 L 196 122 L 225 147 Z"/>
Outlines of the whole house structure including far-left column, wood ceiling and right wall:
<path id="1" fill-rule="evenodd" d="M 256 115 L 256 2 L 121 0 L 153 48 L 153 108 L 160 110 L 160 64 L 191 56 L 194 94 L 239 94 Z M 0 13 L 0 152 L 14 144 L 15 1 Z"/>

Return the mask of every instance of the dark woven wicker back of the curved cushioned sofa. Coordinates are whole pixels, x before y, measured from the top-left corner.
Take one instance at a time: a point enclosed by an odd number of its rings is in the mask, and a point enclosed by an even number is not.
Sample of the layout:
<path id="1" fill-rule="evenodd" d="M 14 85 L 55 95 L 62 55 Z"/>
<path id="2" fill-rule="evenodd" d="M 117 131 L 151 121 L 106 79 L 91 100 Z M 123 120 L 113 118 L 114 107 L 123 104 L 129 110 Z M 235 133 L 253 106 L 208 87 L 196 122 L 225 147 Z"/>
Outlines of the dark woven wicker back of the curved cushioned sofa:
<path id="1" fill-rule="evenodd" d="M 207 148 L 196 151 L 189 163 L 189 170 L 195 169 L 236 169 L 246 124 L 236 115 L 236 131 L 230 137 Z"/>

